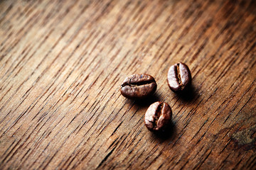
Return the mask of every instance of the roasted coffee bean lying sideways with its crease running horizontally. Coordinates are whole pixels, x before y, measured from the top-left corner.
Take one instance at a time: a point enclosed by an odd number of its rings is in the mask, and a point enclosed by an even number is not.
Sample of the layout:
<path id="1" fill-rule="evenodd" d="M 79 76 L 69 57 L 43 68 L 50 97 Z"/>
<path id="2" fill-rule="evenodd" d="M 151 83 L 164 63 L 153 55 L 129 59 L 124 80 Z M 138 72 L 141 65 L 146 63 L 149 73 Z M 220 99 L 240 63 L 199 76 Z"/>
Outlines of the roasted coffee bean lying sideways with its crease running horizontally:
<path id="1" fill-rule="evenodd" d="M 120 91 L 126 98 L 145 98 L 156 91 L 156 81 L 149 74 L 133 74 L 124 79 Z"/>

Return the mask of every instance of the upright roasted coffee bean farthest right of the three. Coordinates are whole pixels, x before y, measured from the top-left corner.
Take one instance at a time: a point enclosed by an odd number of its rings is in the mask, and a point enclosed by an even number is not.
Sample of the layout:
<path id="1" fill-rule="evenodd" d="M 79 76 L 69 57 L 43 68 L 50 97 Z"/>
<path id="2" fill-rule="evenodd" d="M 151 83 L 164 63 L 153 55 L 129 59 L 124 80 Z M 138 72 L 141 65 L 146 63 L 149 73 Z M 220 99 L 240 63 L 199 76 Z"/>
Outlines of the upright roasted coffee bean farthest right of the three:
<path id="1" fill-rule="evenodd" d="M 186 64 L 178 62 L 169 68 L 167 81 L 174 92 L 183 91 L 191 84 L 191 72 Z"/>

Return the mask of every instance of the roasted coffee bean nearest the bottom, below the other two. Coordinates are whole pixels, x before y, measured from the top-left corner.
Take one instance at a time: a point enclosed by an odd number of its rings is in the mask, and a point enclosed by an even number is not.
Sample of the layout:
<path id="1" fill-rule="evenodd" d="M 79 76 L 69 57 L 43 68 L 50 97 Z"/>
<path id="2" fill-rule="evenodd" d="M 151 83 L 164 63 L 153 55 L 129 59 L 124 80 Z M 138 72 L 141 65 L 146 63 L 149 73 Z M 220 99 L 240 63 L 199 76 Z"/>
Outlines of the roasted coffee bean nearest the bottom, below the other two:
<path id="1" fill-rule="evenodd" d="M 165 102 L 151 104 L 145 113 L 145 125 L 151 131 L 163 132 L 171 125 L 171 107 Z"/>

